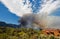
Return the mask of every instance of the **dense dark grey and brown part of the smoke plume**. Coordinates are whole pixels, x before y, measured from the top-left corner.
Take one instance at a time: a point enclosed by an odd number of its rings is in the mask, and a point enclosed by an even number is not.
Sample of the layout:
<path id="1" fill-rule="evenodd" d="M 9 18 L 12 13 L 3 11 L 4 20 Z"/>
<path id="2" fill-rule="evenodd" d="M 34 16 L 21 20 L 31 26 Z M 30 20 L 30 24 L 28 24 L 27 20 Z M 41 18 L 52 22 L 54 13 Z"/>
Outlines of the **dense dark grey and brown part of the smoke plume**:
<path id="1" fill-rule="evenodd" d="M 25 14 L 20 18 L 21 26 L 26 28 L 45 28 L 47 27 L 47 20 L 44 16 L 40 17 L 38 14 Z"/>

